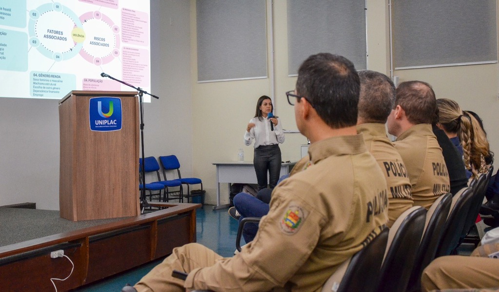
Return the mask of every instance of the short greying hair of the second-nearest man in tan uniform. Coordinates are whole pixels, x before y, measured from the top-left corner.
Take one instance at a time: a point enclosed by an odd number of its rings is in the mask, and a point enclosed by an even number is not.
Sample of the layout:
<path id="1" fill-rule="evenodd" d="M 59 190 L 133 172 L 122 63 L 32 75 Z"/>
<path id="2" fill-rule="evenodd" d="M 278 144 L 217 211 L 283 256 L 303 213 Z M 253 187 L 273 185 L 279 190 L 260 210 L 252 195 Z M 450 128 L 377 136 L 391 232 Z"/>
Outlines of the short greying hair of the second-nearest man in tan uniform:
<path id="1" fill-rule="evenodd" d="M 359 118 L 365 123 L 386 123 L 395 104 L 395 85 L 383 73 L 358 71 L 360 77 Z"/>

